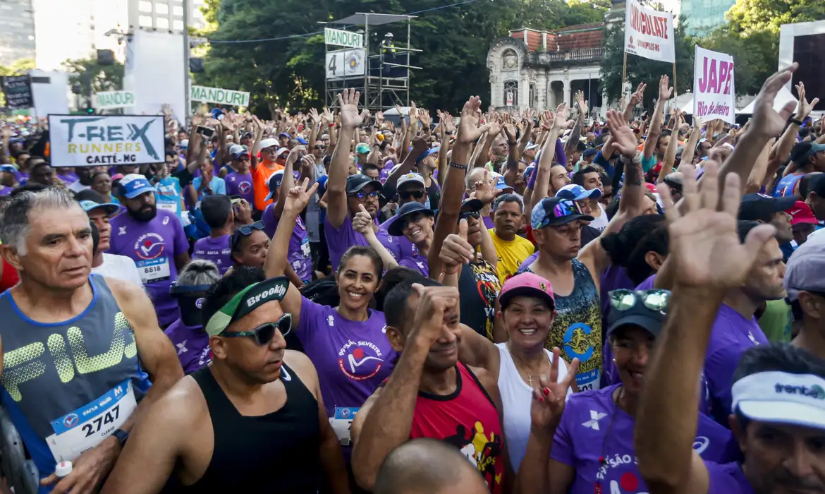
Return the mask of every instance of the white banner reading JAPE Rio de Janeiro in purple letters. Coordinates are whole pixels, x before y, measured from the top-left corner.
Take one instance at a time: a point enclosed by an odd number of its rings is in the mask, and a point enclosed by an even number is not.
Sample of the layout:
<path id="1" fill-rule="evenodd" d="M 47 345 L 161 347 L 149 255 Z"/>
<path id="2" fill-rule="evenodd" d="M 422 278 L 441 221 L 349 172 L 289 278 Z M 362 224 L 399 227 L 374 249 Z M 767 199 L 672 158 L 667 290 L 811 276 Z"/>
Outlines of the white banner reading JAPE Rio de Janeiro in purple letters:
<path id="1" fill-rule="evenodd" d="M 735 123 L 736 92 L 733 57 L 696 45 L 693 68 L 693 117 L 700 121 L 719 118 Z"/>

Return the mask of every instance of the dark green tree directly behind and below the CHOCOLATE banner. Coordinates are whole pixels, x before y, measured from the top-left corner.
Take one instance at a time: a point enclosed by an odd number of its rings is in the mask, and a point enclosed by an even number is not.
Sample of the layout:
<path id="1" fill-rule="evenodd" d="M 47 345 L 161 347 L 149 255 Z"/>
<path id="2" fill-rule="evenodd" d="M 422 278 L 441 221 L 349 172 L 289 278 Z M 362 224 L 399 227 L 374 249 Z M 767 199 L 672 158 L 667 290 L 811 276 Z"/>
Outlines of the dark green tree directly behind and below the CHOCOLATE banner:
<path id="1" fill-rule="evenodd" d="M 624 20 L 624 17 L 622 17 Z M 676 48 L 676 94 L 685 93 L 693 85 L 693 62 L 695 39 L 686 34 L 687 22 L 681 17 L 673 32 Z M 605 33 L 602 45 L 605 49 L 601 60 L 601 87 L 605 88 L 610 100 L 622 96 L 622 60 L 625 55 L 625 23 L 616 22 Z M 646 59 L 638 55 L 627 55 L 627 80 L 635 91 L 639 83 L 648 84 L 644 93 L 644 107 L 653 110 L 653 99 L 658 97 L 659 78 L 670 77 L 673 85 L 673 64 Z"/>

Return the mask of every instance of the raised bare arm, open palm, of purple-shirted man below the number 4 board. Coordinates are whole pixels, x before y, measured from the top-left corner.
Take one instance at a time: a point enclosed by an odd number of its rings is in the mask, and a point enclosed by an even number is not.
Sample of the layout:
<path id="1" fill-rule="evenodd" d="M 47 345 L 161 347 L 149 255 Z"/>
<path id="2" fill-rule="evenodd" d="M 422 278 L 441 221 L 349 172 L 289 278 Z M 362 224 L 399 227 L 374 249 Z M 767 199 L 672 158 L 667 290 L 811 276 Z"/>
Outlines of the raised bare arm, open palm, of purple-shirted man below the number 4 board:
<path id="1" fill-rule="evenodd" d="M 336 146 L 329 164 L 329 178 L 327 180 L 327 219 L 335 228 L 341 228 L 344 218 L 347 217 L 347 174 L 349 173 L 350 149 L 349 144 L 356 129 L 364 121 L 367 111 L 358 113 L 358 100 L 361 93 L 355 89 L 345 89 L 338 95 L 338 104 L 341 107 L 341 135 L 338 136 L 343 145 Z"/>

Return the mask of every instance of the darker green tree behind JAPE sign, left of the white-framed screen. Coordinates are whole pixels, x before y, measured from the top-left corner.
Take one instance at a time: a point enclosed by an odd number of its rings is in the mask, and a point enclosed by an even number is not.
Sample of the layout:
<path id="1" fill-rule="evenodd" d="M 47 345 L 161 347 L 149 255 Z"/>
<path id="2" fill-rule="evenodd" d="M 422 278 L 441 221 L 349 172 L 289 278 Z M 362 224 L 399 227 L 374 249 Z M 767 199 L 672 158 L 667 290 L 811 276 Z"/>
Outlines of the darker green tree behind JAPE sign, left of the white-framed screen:
<path id="1" fill-rule="evenodd" d="M 722 26 L 697 40 L 702 48 L 733 56 L 736 93 L 757 94 L 779 64 L 779 36 L 771 31 L 743 34 Z"/>

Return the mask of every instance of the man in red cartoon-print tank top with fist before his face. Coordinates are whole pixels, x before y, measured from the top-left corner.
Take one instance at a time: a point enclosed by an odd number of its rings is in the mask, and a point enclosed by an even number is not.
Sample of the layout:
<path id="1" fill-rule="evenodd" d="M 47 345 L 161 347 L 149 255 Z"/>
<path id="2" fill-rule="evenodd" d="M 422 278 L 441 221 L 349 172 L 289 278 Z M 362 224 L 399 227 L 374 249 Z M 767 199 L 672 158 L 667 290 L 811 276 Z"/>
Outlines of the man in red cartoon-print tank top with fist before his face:
<path id="1" fill-rule="evenodd" d="M 387 338 L 401 353 L 393 374 L 361 406 L 352 422 L 352 470 L 368 491 L 390 451 L 409 439 L 452 444 L 487 482 L 489 492 L 510 492 L 499 413 L 501 399 L 486 369 L 459 362 L 459 292 L 427 278 L 393 287 L 384 299 Z"/>

